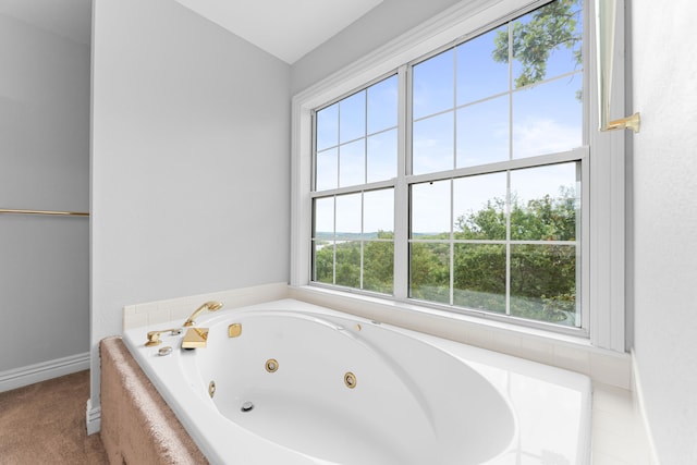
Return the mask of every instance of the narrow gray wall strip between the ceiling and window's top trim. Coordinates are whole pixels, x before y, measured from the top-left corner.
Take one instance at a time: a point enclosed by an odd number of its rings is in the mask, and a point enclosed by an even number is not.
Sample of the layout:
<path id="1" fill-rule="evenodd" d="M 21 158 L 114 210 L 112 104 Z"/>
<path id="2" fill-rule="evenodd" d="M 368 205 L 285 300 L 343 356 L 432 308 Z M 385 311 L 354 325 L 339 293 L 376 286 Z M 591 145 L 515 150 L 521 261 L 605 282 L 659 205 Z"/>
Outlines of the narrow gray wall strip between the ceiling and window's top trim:
<path id="1" fill-rule="evenodd" d="M 458 0 L 383 0 L 293 64 L 293 94 L 365 57 L 455 3 Z"/>

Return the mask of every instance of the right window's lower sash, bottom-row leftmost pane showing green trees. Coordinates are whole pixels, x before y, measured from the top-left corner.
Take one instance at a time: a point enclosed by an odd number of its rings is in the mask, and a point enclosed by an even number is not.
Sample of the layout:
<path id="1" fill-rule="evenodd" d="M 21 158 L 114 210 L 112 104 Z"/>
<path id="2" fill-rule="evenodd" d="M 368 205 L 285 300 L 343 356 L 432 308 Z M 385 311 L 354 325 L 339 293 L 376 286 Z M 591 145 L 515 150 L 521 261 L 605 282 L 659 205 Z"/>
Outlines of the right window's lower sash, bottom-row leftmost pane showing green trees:
<path id="1" fill-rule="evenodd" d="M 409 297 L 450 303 L 450 245 L 412 243 Z"/>

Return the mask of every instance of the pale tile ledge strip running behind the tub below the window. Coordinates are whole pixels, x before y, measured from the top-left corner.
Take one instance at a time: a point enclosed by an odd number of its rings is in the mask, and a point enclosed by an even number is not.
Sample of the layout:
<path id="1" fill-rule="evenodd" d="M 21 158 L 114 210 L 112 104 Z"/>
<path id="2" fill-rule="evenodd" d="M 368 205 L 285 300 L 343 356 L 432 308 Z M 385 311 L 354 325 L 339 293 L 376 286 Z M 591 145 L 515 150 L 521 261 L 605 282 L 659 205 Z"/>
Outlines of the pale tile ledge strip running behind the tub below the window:
<path id="1" fill-rule="evenodd" d="M 293 287 L 286 283 L 272 283 L 129 305 L 123 308 L 123 330 L 178 319 L 184 322 L 200 304 L 207 301 L 221 301 L 224 304 L 223 308 L 239 308 L 286 297 L 565 368 L 587 375 L 594 382 L 625 390 L 632 389 L 632 357 L 629 354 L 597 348 L 591 346 L 587 340 L 550 334 L 458 314 L 444 315 L 438 310 L 380 301 L 374 297 L 346 295 L 345 293 L 308 286 Z"/>

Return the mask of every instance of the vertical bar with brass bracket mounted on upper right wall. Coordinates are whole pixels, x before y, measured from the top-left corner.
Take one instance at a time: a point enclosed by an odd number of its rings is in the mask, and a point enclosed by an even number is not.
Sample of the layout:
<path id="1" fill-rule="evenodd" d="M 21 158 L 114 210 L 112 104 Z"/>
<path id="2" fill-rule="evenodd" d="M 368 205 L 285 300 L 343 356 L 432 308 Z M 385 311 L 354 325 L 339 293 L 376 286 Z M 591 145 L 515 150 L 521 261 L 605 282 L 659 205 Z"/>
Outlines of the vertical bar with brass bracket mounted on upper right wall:
<path id="1" fill-rule="evenodd" d="M 612 88 L 612 65 L 614 61 L 615 0 L 596 0 L 596 45 L 598 47 L 598 109 L 600 111 L 600 131 L 640 129 L 639 113 L 608 122 Z"/>

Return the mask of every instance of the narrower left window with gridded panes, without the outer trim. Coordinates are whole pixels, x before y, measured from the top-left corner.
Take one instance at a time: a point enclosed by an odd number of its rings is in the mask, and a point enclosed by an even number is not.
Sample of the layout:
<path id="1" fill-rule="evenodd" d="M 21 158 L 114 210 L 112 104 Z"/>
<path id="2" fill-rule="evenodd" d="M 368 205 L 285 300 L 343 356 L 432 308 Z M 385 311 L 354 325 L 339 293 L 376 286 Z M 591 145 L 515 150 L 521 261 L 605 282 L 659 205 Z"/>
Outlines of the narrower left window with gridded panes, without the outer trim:
<path id="1" fill-rule="evenodd" d="M 398 90 L 391 76 L 316 113 L 313 281 L 392 294 Z M 372 185 L 372 188 L 370 186 Z"/>

